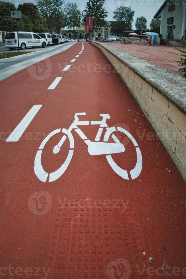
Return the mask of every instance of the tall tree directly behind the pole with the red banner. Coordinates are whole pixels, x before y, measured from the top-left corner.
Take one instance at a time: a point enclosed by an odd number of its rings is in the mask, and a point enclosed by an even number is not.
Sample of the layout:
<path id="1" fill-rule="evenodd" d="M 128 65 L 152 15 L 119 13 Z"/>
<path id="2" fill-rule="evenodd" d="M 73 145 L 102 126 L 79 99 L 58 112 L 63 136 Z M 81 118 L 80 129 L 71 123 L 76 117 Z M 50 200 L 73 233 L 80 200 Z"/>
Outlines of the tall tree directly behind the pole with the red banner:
<path id="1" fill-rule="evenodd" d="M 104 8 L 105 0 L 92 0 L 90 1 L 90 15 L 93 16 L 93 26 L 92 30 L 98 30 L 99 26 L 105 26 L 107 17 L 107 11 Z M 86 3 L 85 9 L 83 11 L 83 24 L 86 25 L 86 17 L 89 15 L 89 2 Z"/>

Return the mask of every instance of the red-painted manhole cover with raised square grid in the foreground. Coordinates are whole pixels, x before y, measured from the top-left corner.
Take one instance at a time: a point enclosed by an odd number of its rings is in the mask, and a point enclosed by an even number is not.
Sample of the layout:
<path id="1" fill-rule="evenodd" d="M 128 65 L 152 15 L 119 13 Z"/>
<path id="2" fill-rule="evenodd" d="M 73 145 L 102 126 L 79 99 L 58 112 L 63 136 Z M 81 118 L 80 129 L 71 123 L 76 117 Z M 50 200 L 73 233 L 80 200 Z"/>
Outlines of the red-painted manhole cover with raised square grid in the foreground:
<path id="1" fill-rule="evenodd" d="M 134 202 L 128 203 L 126 210 L 121 202 L 110 206 L 102 202 L 96 207 L 91 202 L 58 203 L 45 262 L 51 267 L 49 278 L 115 278 L 110 262 L 116 259 L 130 263 L 130 276 L 126 271 L 121 276 L 116 266 L 122 279 L 141 278 L 143 264 L 150 266 Z M 144 272 L 143 278 L 146 276 Z"/>

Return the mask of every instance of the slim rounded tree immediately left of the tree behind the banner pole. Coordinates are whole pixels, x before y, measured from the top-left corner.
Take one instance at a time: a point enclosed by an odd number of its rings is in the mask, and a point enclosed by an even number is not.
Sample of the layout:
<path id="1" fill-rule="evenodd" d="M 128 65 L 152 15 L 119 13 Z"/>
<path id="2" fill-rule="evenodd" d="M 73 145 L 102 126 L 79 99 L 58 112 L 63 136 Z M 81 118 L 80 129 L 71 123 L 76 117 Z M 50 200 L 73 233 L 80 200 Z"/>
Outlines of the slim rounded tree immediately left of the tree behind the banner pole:
<path id="1" fill-rule="evenodd" d="M 67 28 L 74 30 L 76 26 L 80 26 L 81 11 L 78 9 L 76 2 L 69 2 L 64 6 L 64 18 Z"/>

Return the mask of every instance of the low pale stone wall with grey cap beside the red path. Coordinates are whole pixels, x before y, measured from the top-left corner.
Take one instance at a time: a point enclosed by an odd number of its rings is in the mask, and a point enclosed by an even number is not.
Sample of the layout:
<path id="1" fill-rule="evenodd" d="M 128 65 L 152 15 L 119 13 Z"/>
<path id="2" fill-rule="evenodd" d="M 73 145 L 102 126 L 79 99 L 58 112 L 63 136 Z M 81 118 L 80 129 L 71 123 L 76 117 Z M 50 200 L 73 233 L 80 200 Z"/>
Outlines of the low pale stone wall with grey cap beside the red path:
<path id="1" fill-rule="evenodd" d="M 186 79 L 106 43 L 92 44 L 115 67 L 186 182 Z"/>

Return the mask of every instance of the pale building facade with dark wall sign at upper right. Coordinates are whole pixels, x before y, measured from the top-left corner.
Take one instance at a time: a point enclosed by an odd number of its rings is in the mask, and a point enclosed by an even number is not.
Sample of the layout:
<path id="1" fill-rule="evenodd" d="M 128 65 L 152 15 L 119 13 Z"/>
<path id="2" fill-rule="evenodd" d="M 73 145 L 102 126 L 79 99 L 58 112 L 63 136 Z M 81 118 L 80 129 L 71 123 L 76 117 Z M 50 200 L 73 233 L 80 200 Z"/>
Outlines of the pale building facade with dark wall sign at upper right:
<path id="1" fill-rule="evenodd" d="M 186 29 L 186 5 L 183 0 L 166 0 L 155 14 L 161 19 L 161 39 L 181 40 Z M 175 44 L 174 44 L 175 45 Z"/>

